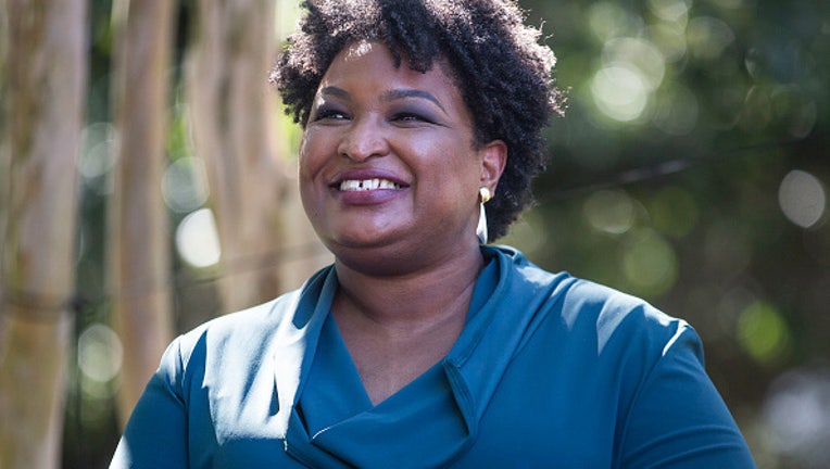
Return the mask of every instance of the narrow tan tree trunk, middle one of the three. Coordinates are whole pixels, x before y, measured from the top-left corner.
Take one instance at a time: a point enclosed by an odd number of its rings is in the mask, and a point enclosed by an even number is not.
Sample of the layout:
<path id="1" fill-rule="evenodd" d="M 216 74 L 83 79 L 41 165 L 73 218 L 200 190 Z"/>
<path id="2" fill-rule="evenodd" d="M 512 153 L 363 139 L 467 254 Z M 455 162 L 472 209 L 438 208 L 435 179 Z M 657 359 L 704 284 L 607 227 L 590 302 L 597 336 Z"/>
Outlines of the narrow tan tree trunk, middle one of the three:
<path id="1" fill-rule="evenodd" d="M 173 335 L 169 228 L 161 181 L 167 165 L 173 9 L 130 1 L 116 18 L 114 121 L 118 160 L 110 202 L 112 317 L 124 346 L 118 415 L 133 411 Z"/>

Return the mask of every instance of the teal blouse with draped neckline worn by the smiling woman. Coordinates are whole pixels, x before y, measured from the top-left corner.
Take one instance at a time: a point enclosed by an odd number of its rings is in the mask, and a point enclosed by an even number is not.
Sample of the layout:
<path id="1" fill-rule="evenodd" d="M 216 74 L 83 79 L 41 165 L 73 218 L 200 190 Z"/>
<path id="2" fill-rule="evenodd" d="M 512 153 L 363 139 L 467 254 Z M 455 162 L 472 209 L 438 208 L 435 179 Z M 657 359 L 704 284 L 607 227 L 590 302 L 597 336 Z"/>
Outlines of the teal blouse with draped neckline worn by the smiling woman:
<path id="1" fill-rule="evenodd" d="M 329 314 L 328 267 L 176 339 L 111 467 L 755 467 L 689 325 L 482 252 L 453 348 L 377 406 Z"/>

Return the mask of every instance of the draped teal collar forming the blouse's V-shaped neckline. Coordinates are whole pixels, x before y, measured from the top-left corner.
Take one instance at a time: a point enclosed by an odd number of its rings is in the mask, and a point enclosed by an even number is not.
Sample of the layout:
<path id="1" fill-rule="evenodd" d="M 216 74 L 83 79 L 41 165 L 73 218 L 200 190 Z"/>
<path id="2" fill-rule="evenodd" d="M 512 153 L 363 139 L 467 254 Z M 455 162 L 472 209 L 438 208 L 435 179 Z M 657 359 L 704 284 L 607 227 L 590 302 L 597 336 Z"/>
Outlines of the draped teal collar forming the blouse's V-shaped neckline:
<path id="1" fill-rule="evenodd" d="M 289 455 L 322 468 L 401 467 L 402 461 L 440 467 L 475 442 L 478 422 L 513 355 L 568 278 L 539 269 L 512 248 L 482 246 L 482 253 L 487 265 L 476 282 L 467 324 L 447 357 L 387 401 L 316 434 L 306 430 L 297 403 L 338 283 L 334 267 L 306 282 L 292 306 L 292 320 L 275 335 L 277 419 Z"/>

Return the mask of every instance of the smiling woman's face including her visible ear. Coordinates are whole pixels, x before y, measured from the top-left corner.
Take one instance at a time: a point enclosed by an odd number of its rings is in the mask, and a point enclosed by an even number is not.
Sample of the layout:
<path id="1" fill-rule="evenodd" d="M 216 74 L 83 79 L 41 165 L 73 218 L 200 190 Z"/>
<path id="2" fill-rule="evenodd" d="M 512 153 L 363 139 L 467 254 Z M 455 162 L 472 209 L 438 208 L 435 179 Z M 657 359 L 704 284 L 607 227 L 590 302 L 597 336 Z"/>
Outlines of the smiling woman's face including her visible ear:
<path id="1" fill-rule="evenodd" d="M 324 75 L 303 134 L 303 206 L 341 261 L 477 246 L 479 187 L 494 192 L 506 156 L 501 141 L 480 147 L 440 64 L 419 73 L 381 43 L 353 45 Z"/>

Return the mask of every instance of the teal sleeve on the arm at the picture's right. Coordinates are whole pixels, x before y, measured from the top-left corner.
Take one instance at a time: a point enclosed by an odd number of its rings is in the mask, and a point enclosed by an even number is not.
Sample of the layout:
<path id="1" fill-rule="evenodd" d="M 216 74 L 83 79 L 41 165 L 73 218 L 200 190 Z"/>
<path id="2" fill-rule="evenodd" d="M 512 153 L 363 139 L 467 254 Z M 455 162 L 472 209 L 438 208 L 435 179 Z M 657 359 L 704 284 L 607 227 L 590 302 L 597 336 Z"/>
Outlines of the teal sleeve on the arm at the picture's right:
<path id="1" fill-rule="evenodd" d="M 755 464 L 688 326 L 666 345 L 626 418 L 615 467 L 744 469 Z"/>

